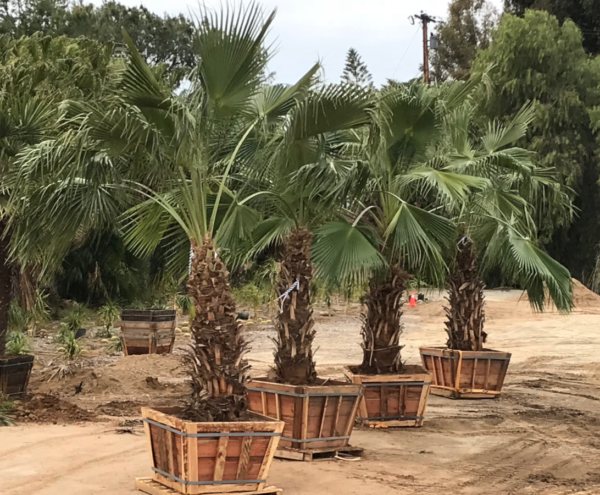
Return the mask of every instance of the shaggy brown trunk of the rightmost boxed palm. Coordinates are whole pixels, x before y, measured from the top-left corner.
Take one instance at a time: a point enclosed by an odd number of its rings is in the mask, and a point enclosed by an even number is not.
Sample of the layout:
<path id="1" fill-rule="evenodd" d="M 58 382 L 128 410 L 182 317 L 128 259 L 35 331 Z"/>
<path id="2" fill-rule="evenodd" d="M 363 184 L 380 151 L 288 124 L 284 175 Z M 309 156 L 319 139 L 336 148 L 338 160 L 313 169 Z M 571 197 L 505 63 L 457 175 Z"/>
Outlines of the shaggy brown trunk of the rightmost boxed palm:
<path id="1" fill-rule="evenodd" d="M 459 351 L 481 351 L 486 333 L 484 295 L 485 284 L 479 278 L 477 253 L 466 237 L 458 243 L 454 271 L 450 277 L 447 300 L 450 307 L 444 308 L 448 320 L 448 347 Z"/>

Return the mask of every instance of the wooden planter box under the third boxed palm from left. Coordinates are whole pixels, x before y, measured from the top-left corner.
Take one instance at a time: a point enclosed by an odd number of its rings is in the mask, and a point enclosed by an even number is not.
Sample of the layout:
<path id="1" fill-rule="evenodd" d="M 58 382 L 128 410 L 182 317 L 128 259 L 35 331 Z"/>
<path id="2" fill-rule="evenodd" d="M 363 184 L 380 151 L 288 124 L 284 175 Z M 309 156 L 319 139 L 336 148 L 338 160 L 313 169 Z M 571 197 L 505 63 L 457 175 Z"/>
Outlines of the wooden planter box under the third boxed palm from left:
<path id="1" fill-rule="evenodd" d="M 421 366 L 406 365 L 395 375 L 364 375 L 348 366 L 344 374 L 365 387 L 357 418 L 364 426 L 423 426 L 431 375 Z"/>

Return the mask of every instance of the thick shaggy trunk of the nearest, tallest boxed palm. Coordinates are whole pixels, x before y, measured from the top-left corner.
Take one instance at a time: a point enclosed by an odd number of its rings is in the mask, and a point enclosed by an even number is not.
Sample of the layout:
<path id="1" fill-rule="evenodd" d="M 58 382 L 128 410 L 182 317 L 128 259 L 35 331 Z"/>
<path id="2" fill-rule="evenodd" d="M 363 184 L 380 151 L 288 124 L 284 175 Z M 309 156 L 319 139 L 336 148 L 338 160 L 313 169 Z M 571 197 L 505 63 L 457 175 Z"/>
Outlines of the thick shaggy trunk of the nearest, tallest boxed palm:
<path id="1" fill-rule="evenodd" d="M 192 400 L 186 414 L 194 421 L 235 421 L 247 409 L 244 383 L 250 366 L 244 355 L 248 344 L 237 322 L 229 273 L 215 256 L 212 238 L 207 234 L 201 246 L 192 241 L 192 249 L 188 293 L 194 298 L 196 316 L 187 355 Z"/>

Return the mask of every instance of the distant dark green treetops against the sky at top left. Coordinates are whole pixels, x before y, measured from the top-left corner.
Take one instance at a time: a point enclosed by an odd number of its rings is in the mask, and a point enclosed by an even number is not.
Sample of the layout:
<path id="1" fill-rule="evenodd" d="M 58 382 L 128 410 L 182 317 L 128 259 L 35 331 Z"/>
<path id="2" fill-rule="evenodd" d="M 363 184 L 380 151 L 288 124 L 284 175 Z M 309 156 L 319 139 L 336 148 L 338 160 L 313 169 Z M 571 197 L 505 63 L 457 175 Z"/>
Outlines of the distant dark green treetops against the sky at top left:
<path id="1" fill-rule="evenodd" d="M 125 29 L 152 64 L 164 63 L 169 70 L 196 64 L 192 22 L 183 15 L 160 16 L 143 5 L 126 7 L 113 1 L 96 7 L 67 0 L 2 0 L 0 12 L 0 33 L 14 38 L 41 32 L 122 45 Z"/>

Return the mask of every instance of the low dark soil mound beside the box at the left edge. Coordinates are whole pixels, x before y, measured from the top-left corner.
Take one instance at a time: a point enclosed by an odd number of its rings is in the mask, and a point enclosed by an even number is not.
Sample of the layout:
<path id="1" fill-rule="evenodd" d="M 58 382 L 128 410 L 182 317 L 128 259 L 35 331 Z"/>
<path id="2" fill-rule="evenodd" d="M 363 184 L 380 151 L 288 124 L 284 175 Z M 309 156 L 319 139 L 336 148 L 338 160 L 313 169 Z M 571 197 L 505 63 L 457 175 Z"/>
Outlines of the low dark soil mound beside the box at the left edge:
<path id="1" fill-rule="evenodd" d="M 15 419 L 19 422 L 65 424 L 93 421 L 94 418 L 93 413 L 53 395 L 36 394 L 15 401 Z"/>

